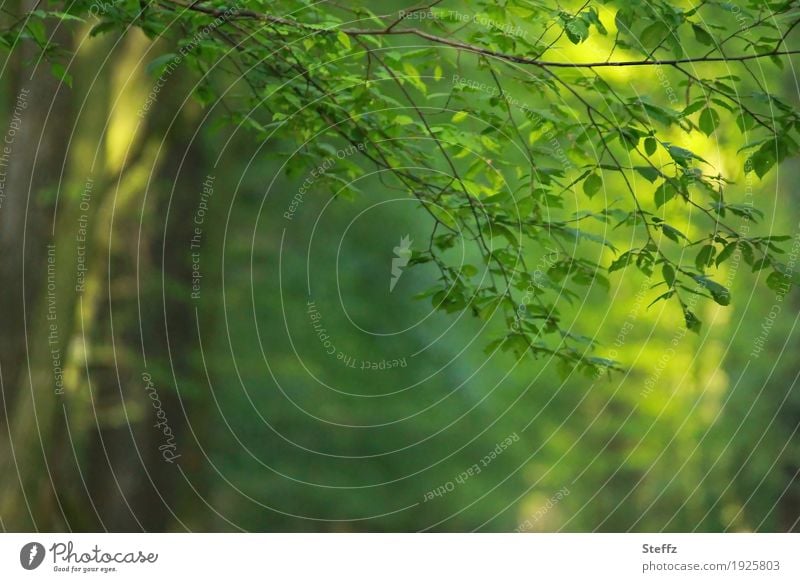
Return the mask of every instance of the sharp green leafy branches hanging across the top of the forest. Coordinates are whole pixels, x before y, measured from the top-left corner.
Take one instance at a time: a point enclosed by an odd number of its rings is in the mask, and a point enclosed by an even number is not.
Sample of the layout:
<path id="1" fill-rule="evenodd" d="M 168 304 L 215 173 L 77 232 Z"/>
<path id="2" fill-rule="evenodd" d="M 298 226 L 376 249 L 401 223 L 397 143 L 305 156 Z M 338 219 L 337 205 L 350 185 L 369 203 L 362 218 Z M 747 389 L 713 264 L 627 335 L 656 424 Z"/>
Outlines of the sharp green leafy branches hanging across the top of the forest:
<path id="1" fill-rule="evenodd" d="M 379 15 L 366 3 L 84 0 L 24 15 L 3 41 L 35 43 L 69 84 L 69 53 L 44 22 L 90 22 L 91 35 L 139 27 L 173 45 L 152 59 L 154 77 L 185 63 L 196 99 L 223 102 L 230 126 L 293 142 L 287 172 L 346 144 L 363 150 L 315 188 L 366 196 L 352 180 L 371 167 L 414 196 L 434 226 L 412 263 L 438 271 L 422 297 L 502 321 L 489 350 L 594 376 L 616 363 L 563 322 L 608 276 L 652 278 L 655 301 L 694 331 L 697 296 L 730 303 L 720 274 L 739 256 L 774 288 L 796 281 L 781 259 L 788 237 L 751 226 L 755 180 L 800 147 L 800 115 L 763 83 L 797 52 L 785 42 L 796 1 L 444 4 Z M 739 144 L 746 184 L 692 151 L 706 136 Z M 549 244 L 557 259 L 534 276 Z"/>

